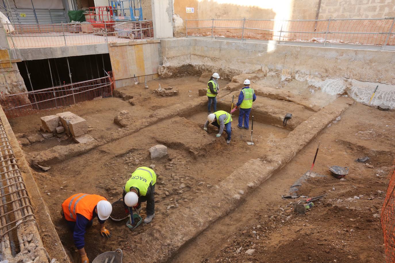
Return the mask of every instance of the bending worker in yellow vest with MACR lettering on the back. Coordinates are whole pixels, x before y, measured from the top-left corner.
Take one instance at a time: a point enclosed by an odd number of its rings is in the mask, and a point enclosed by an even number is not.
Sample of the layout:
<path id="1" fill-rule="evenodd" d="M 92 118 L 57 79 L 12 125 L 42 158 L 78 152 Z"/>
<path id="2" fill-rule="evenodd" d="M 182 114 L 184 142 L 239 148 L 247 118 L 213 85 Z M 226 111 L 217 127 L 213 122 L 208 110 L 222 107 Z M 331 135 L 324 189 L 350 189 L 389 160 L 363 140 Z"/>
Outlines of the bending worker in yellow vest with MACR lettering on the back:
<path id="1" fill-rule="evenodd" d="M 141 202 L 147 201 L 147 217 L 144 223 L 148 224 L 155 216 L 155 183 L 156 173 L 151 168 L 142 166 L 137 168 L 126 182 L 123 191 L 125 205 L 141 210 Z"/>

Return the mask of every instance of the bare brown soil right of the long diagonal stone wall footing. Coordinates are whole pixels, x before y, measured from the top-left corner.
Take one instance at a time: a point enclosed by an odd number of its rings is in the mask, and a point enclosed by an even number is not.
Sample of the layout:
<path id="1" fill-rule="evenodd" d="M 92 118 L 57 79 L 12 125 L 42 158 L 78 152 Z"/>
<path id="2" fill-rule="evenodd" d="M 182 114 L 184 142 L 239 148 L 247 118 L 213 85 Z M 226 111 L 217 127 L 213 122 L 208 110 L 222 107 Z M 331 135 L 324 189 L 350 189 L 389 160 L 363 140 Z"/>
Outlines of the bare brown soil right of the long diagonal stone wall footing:
<path id="1" fill-rule="evenodd" d="M 201 233 L 171 262 L 385 262 L 377 214 L 395 156 L 391 139 L 395 125 L 388 121 L 393 116 L 395 112 L 362 104 L 351 106 L 338 123 L 332 123 L 241 207 Z M 310 168 L 318 141 L 321 147 L 314 171 L 324 177 L 309 179 L 298 193 L 326 196 L 314 202 L 307 215 L 296 215 L 288 211 L 293 200 L 281 195 Z M 371 158 L 367 163 L 373 168 L 355 162 L 365 156 Z M 330 175 L 327 166 L 331 165 L 348 166 L 350 173 L 340 181 Z M 255 251 L 245 254 L 248 249 Z"/>

